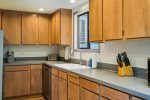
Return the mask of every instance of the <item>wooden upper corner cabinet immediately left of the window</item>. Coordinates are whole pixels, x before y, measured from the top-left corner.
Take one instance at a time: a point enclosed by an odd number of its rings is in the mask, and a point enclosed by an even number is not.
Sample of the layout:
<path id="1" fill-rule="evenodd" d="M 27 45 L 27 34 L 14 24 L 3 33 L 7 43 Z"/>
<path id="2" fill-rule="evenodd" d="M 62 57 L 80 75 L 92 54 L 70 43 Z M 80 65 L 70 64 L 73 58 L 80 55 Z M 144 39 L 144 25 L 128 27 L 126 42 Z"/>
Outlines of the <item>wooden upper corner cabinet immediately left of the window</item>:
<path id="1" fill-rule="evenodd" d="M 70 45 L 71 40 L 72 40 L 72 10 L 70 9 L 57 10 L 51 16 L 50 44 Z"/>

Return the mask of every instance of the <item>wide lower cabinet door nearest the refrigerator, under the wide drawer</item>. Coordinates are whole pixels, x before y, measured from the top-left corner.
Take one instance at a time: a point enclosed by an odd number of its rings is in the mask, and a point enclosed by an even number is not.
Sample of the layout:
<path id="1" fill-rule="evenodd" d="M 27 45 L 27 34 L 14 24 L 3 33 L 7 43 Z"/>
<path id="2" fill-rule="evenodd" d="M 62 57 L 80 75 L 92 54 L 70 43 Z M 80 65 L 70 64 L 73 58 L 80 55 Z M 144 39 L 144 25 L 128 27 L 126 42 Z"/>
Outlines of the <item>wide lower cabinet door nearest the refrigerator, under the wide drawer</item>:
<path id="1" fill-rule="evenodd" d="M 28 69 L 21 70 L 18 70 L 19 67 L 12 69 L 11 67 L 10 69 L 8 68 L 8 71 L 4 72 L 4 97 L 30 95 L 29 67 Z"/>

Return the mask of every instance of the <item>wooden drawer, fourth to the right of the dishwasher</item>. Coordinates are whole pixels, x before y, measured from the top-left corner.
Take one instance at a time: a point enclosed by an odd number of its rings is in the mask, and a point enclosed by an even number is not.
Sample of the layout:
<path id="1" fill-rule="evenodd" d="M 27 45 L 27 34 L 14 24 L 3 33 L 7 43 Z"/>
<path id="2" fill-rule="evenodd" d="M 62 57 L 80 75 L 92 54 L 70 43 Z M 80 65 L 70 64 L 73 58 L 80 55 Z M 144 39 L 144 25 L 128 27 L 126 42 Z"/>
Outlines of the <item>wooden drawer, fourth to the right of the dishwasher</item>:
<path id="1" fill-rule="evenodd" d="M 80 86 L 99 94 L 99 84 L 80 78 Z"/>

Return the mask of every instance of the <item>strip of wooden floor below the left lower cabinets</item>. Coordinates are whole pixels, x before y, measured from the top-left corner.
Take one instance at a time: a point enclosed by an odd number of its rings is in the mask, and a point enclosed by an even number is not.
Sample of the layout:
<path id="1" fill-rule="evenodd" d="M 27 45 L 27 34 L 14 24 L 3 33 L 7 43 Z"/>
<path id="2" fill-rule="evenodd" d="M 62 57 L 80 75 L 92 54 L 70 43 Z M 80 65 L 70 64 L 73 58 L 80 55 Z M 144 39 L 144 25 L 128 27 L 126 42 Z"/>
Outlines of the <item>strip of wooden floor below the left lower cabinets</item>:
<path id="1" fill-rule="evenodd" d="M 17 98 L 7 98 L 4 100 L 45 100 L 42 96 L 26 96 Z"/>

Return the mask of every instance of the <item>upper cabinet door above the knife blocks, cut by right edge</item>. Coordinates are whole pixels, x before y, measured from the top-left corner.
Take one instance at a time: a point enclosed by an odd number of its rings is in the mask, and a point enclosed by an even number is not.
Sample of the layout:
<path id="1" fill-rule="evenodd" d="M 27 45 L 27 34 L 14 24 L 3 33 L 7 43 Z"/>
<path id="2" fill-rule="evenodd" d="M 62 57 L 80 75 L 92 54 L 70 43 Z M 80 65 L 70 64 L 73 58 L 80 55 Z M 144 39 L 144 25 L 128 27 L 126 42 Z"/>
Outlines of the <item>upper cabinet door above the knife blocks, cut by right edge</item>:
<path id="1" fill-rule="evenodd" d="M 126 38 L 150 36 L 150 0 L 123 0 L 123 30 Z"/>

